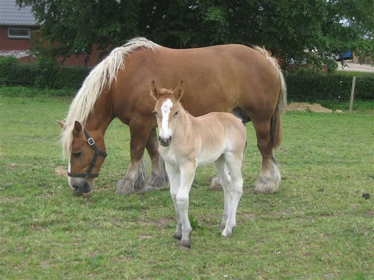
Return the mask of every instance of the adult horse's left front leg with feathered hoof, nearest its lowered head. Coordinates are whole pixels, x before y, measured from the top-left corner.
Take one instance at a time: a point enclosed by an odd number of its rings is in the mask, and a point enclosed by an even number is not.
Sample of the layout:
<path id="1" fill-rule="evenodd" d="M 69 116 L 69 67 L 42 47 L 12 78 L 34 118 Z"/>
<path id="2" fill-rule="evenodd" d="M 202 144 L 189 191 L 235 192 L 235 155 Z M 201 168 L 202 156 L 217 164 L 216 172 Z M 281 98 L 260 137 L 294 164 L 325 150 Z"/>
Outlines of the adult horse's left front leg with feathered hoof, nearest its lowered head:
<path id="1" fill-rule="evenodd" d="M 146 190 L 147 170 L 143 162 L 145 143 L 151 128 L 146 121 L 137 119 L 130 122 L 130 165 L 126 176 L 117 184 L 116 194 L 141 193 Z"/>

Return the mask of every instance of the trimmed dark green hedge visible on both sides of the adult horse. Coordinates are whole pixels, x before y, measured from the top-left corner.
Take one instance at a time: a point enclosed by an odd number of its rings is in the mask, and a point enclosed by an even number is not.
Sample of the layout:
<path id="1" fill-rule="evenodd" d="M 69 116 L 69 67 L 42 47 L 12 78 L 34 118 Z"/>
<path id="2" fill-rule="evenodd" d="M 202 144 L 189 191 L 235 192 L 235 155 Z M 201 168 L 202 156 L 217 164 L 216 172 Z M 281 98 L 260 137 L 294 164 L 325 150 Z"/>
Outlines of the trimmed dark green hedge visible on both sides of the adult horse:
<path id="1" fill-rule="evenodd" d="M 19 64 L 14 57 L 0 58 L 0 85 L 78 90 L 90 69 L 58 66 L 40 59 L 35 65 Z M 350 97 L 352 76 L 346 74 L 287 74 L 290 101 L 313 101 Z M 374 99 L 374 75 L 356 77 L 355 98 Z"/>

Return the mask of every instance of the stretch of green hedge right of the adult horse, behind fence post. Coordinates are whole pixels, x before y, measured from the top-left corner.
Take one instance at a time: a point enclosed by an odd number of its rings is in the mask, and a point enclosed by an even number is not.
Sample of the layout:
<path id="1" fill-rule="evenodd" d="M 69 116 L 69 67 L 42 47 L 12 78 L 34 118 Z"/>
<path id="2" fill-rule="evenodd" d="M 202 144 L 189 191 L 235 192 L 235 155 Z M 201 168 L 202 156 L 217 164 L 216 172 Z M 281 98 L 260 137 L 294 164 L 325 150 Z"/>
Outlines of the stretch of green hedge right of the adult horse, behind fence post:
<path id="1" fill-rule="evenodd" d="M 313 101 L 316 99 L 350 98 L 352 77 L 346 74 L 287 74 L 288 99 Z M 357 76 L 354 98 L 374 99 L 374 75 Z"/>

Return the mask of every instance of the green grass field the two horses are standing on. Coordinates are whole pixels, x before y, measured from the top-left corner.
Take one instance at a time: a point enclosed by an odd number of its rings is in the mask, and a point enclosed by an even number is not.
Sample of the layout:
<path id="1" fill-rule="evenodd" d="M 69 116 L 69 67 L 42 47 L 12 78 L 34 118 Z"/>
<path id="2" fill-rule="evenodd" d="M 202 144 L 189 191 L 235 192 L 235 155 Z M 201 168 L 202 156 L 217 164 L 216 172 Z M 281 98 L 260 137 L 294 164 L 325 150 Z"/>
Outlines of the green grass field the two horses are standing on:
<path id="1" fill-rule="evenodd" d="M 198 226 L 180 251 L 168 191 L 115 195 L 129 163 L 119 121 L 94 191 L 73 195 L 56 122 L 68 106 L 66 97 L 1 97 L 0 278 L 374 278 L 370 112 L 287 112 L 275 152 L 284 180 L 272 195 L 253 193 L 261 157 L 248 124 L 234 237 L 220 237 L 223 194 L 208 190 L 213 167 L 200 168 L 190 193 Z"/>

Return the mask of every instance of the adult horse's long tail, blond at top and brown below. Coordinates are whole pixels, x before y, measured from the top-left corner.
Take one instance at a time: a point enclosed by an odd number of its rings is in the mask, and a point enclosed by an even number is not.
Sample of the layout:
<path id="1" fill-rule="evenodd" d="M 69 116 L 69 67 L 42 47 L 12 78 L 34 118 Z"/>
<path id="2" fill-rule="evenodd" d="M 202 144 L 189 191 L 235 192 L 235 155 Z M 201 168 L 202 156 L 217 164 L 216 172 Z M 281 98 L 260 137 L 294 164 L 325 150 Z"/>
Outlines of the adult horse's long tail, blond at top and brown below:
<path id="1" fill-rule="evenodd" d="M 279 64 L 276 62 L 275 58 L 265 49 L 255 46 L 254 49 L 264 55 L 269 59 L 271 64 L 276 69 L 277 75 L 279 77 L 279 83 L 281 84 L 281 90 L 279 91 L 278 102 L 271 117 L 270 122 L 270 145 L 271 148 L 276 149 L 279 147 L 282 141 L 282 115 L 285 113 L 287 106 L 287 86 L 285 77 Z"/>

